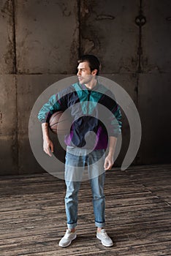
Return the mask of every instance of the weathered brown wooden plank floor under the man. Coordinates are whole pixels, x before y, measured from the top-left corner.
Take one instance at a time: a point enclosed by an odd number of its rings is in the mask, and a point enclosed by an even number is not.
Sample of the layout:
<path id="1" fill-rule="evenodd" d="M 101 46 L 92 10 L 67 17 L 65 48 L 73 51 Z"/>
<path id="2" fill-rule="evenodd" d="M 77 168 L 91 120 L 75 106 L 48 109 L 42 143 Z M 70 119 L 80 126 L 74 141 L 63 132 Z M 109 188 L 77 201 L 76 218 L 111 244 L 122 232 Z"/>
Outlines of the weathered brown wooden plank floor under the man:
<path id="1" fill-rule="evenodd" d="M 91 189 L 80 188 L 77 239 L 63 249 L 66 230 L 64 181 L 48 173 L 1 177 L 0 255 L 171 255 L 171 165 L 108 171 L 106 229 L 115 241 L 96 238 Z"/>

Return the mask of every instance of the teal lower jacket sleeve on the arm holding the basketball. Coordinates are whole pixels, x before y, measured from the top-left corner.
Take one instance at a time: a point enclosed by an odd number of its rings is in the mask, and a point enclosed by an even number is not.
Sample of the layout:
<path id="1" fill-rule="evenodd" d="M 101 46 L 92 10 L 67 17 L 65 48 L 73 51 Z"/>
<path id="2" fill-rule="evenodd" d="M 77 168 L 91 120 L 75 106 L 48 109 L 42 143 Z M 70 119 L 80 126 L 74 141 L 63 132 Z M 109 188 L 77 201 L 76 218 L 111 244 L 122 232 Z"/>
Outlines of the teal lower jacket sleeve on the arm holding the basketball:
<path id="1" fill-rule="evenodd" d="M 54 94 L 50 97 L 47 103 L 42 106 L 38 113 L 38 119 L 42 123 L 48 123 L 50 116 L 58 110 L 64 110 L 64 99 L 60 98 L 59 94 Z"/>

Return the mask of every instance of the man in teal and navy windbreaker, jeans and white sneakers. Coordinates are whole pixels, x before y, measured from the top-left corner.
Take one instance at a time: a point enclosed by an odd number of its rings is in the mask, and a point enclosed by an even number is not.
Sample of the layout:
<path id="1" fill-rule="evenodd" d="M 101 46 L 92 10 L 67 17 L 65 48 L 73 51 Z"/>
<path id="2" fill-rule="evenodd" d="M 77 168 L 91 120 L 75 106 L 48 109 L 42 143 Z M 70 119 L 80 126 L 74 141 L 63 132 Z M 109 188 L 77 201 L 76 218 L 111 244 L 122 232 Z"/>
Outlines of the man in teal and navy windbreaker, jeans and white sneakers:
<path id="1" fill-rule="evenodd" d="M 68 229 L 59 242 L 62 247 L 69 246 L 77 236 L 77 194 L 85 165 L 88 166 L 93 195 L 96 238 L 104 246 L 113 246 L 112 239 L 104 229 L 104 177 L 105 170 L 110 170 L 114 164 L 115 145 L 121 133 L 121 112 L 111 91 L 99 83 L 99 68 L 96 56 L 82 56 L 77 66 L 79 82 L 50 97 L 38 115 L 39 121 L 42 121 L 43 148 L 49 156 L 53 152 L 53 142 L 48 135 L 50 116 L 58 110 L 69 109 L 73 120 L 70 132 L 65 137 L 65 208 Z M 108 112 L 105 112 L 106 109 Z"/>

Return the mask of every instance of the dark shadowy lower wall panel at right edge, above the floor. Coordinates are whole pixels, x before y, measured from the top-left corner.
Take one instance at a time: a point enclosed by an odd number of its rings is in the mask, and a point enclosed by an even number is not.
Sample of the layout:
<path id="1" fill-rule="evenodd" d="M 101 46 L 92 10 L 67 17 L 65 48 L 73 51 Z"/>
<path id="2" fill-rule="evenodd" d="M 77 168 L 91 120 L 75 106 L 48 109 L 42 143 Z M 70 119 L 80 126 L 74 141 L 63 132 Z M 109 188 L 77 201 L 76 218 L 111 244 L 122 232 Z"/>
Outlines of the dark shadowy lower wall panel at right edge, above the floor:
<path id="1" fill-rule="evenodd" d="M 170 74 L 140 75 L 141 164 L 170 162 L 170 83 Z"/>

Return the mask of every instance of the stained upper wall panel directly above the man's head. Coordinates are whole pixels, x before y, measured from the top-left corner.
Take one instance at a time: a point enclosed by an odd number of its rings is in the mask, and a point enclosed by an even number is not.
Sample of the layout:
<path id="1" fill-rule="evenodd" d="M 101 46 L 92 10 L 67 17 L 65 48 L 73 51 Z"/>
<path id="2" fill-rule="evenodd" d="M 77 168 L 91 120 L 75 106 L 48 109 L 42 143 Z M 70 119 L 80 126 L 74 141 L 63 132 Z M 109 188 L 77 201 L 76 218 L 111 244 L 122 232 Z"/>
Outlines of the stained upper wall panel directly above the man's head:
<path id="1" fill-rule="evenodd" d="M 81 53 L 99 56 L 104 73 L 137 70 L 138 6 L 137 0 L 81 1 Z"/>

